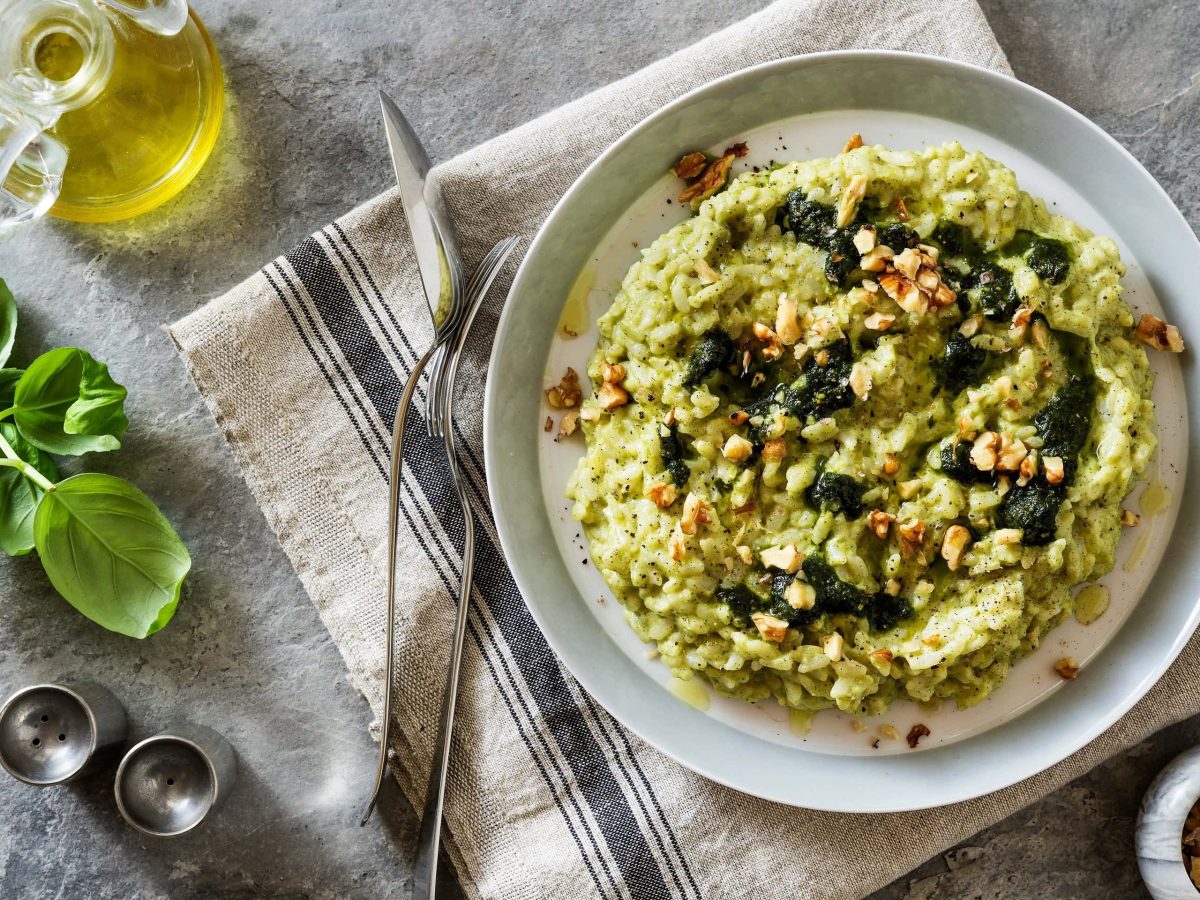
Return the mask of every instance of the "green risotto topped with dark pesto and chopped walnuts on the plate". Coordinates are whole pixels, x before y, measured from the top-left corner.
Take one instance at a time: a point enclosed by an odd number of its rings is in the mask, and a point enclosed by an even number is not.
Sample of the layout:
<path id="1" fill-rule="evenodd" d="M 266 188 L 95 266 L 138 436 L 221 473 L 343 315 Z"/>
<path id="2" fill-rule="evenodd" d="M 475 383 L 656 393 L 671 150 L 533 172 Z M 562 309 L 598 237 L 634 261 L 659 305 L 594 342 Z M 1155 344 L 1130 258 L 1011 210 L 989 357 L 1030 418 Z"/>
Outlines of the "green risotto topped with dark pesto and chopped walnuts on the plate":
<path id="1" fill-rule="evenodd" d="M 959 144 L 704 199 L 630 268 L 578 410 L 568 493 L 630 626 L 746 701 L 986 697 L 1112 568 L 1154 451 L 1136 337 L 1182 343 L 1135 334 L 1123 271 Z"/>

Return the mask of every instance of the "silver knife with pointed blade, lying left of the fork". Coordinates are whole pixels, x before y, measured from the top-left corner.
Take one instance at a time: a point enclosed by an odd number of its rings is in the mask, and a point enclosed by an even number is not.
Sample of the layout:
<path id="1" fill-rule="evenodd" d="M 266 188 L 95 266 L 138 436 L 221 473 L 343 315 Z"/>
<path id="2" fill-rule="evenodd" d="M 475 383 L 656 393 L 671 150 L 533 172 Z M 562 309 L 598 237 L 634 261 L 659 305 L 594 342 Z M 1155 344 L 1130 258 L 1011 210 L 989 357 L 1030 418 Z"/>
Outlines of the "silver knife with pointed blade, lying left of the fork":
<path id="1" fill-rule="evenodd" d="M 403 474 L 404 425 L 408 420 L 408 407 L 412 403 L 421 372 L 425 371 L 431 356 L 455 335 L 455 329 L 464 313 L 462 256 L 458 253 L 458 242 L 446 214 L 442 188 L 436 179 L 428 178 L 430 157 L 391 97 L 379 91 L 379 103 L 383 107 L 388 149 L 391 152 L 392 168 L 396 170 L 396 185 L 400 187 L 400 202 L 404 208 L 408 229 L 413 235 L 421 286 L 433 322 L 433 343 L 416 361 L 408 376 L 404 389 L 401 391 L 400 403 L 396 406 L 396 420 L 391 431 L 390 490 L 388 492 L 388 650 L 384 662 L 386 678 L 384 679 L 383 694 L 383 739 L 379 744 L 379 764 L 376 768 L 374 787 L 371 791 L 367 808 L 362 812 L 361 824 L 366 824 L 374 811 L 388 770 L 388 734 L 391 727 L 392 700 L 391 676 L 395 672 L 396 653 L 396 530 L 400 524 L 400 486 Z"/>

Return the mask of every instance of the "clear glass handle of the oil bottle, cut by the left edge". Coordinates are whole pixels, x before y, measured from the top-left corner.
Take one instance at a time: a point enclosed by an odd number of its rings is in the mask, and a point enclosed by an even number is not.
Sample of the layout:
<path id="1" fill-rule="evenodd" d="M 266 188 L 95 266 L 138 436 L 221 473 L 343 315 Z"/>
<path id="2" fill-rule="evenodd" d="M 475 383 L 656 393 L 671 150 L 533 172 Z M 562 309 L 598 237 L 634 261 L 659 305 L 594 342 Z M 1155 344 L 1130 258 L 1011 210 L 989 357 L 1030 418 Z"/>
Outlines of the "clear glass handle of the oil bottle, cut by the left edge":
<path id="1" fill-rule="evenodd" d="M 0 236 L 54 205 L 66 164 L 67 149 L 40 122 L 0 109 Z"/>

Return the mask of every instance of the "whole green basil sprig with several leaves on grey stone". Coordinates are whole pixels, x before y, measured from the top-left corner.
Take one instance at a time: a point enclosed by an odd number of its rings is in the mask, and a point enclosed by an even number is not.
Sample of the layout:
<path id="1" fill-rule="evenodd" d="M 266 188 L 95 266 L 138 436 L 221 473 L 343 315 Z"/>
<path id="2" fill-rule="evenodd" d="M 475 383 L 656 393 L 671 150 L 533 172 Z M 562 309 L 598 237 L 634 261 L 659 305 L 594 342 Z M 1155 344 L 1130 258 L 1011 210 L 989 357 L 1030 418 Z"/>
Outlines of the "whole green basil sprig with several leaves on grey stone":
<path id="1" fill-rule="evenodd" d="M 148 637 L 170 622 L 192 566 L 144 493 L 115 475 L 59 480 L 50 454 L 116 450 L 124 386 L 86 350 L 62 347 L 6 368 L 17 306 L 0 280 L 0 550 L 37 550 L 50 583 L 92 622 Z"/>

